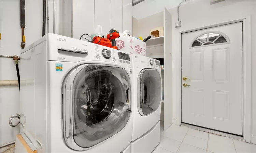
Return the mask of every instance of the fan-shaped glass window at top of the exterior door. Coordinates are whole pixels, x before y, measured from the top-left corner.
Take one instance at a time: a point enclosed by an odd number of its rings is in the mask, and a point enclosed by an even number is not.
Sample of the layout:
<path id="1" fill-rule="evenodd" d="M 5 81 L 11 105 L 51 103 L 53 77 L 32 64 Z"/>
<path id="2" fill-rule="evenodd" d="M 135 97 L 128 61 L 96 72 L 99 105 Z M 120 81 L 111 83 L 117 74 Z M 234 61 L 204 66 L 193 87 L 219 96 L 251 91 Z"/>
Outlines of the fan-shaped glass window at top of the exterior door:
<path id="1" fill-rule="evenodd" d="M 191 47 L 227 43 L 228 40 L 226 37 L 227 36 L 224 36 L 223 34 L 219 34 L 215 32 L 203 33 L 202 35 L 200 35 L 194 40 Z"/>

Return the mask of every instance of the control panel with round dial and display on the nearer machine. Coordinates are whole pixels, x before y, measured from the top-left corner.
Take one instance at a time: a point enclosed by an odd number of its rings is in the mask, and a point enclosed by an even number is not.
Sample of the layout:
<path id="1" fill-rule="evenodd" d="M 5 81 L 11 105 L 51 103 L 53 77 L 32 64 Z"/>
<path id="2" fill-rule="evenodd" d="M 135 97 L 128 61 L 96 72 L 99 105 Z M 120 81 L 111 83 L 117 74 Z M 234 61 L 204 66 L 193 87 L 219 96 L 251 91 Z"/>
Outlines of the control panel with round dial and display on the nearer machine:
<path id="1" fill-rule="evenodd" d="M 93 60 L 119 63 L 131 67 L 130 54 L 125 52 L 91 43 L 91 54 Z"/>

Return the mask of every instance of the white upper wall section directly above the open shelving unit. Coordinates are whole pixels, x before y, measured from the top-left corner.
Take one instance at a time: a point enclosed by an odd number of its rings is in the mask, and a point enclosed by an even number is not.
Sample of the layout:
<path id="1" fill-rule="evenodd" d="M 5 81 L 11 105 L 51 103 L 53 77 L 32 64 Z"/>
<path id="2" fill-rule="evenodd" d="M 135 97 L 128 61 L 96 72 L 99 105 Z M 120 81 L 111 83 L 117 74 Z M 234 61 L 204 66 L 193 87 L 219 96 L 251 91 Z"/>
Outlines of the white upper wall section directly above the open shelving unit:
<path id="1" fill-rule="evenodd" d="M 170 8 L 176 7 L 181 1 L 182 0 L 145 0 L 132 6 L 132 16 L 139 20 L 162 12 L 164 6 L 168 10 Z"/>

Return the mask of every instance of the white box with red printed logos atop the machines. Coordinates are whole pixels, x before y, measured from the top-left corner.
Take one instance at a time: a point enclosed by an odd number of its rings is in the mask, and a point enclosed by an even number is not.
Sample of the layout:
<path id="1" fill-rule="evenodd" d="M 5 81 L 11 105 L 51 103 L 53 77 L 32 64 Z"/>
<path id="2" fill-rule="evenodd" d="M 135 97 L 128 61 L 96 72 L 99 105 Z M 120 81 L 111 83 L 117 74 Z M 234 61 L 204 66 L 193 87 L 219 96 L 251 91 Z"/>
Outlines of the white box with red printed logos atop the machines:
<path id="1" fill-rule="evenodd" d="M 116 38 L 116 46 L 118 50 L 130 54 L 146 56 L 146 43 L 137 38 L 131 36 Z"/>

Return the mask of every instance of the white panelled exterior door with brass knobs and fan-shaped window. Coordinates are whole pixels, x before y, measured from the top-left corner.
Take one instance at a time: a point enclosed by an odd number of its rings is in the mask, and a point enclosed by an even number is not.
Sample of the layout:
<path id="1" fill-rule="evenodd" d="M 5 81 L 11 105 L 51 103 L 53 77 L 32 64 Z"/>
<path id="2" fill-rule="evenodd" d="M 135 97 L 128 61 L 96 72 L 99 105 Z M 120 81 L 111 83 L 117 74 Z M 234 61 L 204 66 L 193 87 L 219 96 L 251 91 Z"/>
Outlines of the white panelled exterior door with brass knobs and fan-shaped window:
<path id="1" fill-rule="evenodd" d="M 243 135 L 242 36 L 242 22 L 182 34 L 183 123 Z"/>

